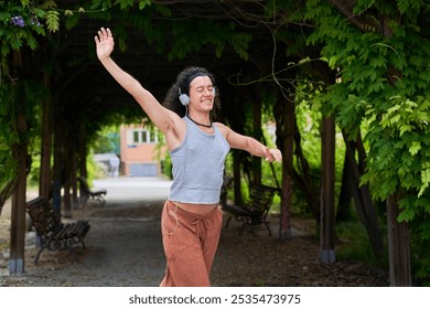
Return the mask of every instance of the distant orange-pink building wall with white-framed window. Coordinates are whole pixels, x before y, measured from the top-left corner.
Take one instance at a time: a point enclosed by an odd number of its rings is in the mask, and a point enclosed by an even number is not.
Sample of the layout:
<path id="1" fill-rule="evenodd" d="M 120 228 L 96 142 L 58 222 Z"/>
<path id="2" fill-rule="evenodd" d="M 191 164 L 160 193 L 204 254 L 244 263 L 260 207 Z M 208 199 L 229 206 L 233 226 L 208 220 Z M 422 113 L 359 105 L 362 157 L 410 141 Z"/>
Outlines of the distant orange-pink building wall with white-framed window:
<path id="1" fill-rule="evenodd" d="M 142 177 L 161 173 L 159 160 L 164 158 L 165 147 L 158 149 L 159 136 L 157 129 L 143 126 L 121 126 L 120 148 L 125 175 Z"/>

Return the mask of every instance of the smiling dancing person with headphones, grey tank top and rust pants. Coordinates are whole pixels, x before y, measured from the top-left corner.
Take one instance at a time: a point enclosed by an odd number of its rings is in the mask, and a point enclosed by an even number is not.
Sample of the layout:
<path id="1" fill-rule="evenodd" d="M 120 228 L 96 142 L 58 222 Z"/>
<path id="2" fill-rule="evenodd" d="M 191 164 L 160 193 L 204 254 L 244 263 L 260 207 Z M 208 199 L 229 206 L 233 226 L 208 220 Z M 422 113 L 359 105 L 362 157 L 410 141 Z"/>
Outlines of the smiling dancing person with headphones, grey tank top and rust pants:
<path id="1" fill-rule="evenodd" d="M 166 270 L 160 286 L 205 287 L 218 246 L 223 214 L 217 203 L 224 161 L 230 148 L 281 161 L 278 149 L 212 122 L 217 99 L 214 78 L 205 68 L 187 67 L 168 92 L 164 107 L 110 57 L 114 36 L 101 28 L 97 56 L 110 75 L 163 132 L 173 163 L 173 183 L 161 216 Z"/>

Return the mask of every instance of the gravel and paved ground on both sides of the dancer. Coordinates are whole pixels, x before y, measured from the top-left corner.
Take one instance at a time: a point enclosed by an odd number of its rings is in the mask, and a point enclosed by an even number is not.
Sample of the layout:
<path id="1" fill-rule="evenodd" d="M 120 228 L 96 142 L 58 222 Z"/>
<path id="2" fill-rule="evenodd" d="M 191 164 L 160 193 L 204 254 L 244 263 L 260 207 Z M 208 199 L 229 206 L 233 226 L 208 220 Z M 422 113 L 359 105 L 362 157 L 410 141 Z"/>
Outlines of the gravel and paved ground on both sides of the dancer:
<path id="1" fill-rule="evenodd" d="M 96 184 L 108 187 L 106 206 L 89 203 L 72 212 L 72 220 L 88 220 L 92 225 L 86 249 L 76 249 L 78 263 L 69 252 L 44 251 L 39 265 L 34 265 L 37 249 L 35 234 L 30 231 L 26 234 L 25 273 L 10 276 L 10 219 L 3 209 L 0 287 L 157 287 L 160 284 L 165 267 L 160 214 L 170 183 L 126 179 Z M 144 201 L 141 201 L 142 195 L 147 196 Z M 276 237 L 278 219 L 271 217 L 271 222 L 272 237 L 268 236 L 265 226 L 255 233 L 238 235 L 240 226 L 234 220 L 228 228 L 223 227 L 211 277 L 213 286 L 388 286 L 388 274 L 380 269 L 358 263 L 320 264 L 319 239 L 312 221 L 293 219 L 292 237 L 287 242 Z"/>

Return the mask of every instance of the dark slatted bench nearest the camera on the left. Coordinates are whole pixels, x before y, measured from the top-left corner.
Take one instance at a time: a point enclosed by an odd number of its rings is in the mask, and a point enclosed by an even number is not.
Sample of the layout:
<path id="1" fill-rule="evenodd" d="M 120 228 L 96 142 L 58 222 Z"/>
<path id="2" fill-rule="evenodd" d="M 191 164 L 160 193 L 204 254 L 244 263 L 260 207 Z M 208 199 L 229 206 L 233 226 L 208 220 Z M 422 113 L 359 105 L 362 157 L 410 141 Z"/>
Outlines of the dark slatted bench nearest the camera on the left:
<path id="1" fill-rule="evenodd" d="M 84 239 L 90 227 L 87 221 L 62 223 L 50 202 L 44 198 L 29 201 L 25 211 L 29 213 L 34 230 L 40 237 L 40 249 L 34 259 L 35 264 L 37 264 L 39 257 L 45 248 L 50 251 L 69 249 L 76 263 L 78 262 L 74 248 L 79 244 L 85 248 Z"/>

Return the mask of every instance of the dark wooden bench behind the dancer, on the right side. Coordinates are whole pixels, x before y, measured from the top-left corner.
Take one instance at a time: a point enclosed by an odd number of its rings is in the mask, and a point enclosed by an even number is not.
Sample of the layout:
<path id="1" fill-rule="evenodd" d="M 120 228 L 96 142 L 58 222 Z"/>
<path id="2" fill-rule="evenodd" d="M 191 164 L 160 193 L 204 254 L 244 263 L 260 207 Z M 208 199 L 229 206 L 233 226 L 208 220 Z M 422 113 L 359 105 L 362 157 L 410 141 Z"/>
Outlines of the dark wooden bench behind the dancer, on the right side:
<path id="1" fill-rule="evenodd" d="M 250 188 L 249 198 L 241 205 L 222 205 L 223 211 L 230 215 L 225 226 L 228 227 L 232 217 L 234 217 L 238 222 L 241 222 L 239 235 L 246 226 L 249 226 L 251 228 L 250 232 L 254 232 L 254 228 L 257 225 L 265 224 L 269 232 L 269 236 L 271 236 L 271 230 L 267 222 L 267 215 L 269 214 L 275 194 L 280 195 L 280 189 L 264 184 Z"/>

